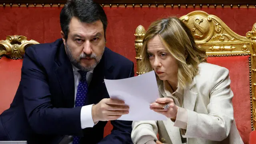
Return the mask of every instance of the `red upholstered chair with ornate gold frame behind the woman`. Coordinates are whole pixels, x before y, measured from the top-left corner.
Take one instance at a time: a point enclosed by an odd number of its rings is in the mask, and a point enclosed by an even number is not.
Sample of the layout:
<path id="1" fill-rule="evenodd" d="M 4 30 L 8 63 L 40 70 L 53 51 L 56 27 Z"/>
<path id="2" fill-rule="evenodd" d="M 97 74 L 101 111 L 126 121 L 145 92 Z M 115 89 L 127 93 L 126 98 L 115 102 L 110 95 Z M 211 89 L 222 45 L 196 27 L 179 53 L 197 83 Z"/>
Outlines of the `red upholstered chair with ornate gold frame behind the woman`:
<path id="1" fill-rule="evenodd" d="M 230 30 L 220 18 L 203 11 L 190 12 L 180 19 L 192 31 L 196 44 L 206 49 L 207 62 L 223 66 L 230 71 L 236 126 L 244 143 L 249 144 L 250 132 L 256 124 L 256 23 L 246 36 L 240 36 Z M 140 48 L 144 34 L 144 27 L 138 26 L 135 33 L 137 68 L 140 65 Z M 141 73 L 143 72 L 137 69 L 137 74 Z M 254 135 L 256 137 L 253 133 L 251 136 Z"/>

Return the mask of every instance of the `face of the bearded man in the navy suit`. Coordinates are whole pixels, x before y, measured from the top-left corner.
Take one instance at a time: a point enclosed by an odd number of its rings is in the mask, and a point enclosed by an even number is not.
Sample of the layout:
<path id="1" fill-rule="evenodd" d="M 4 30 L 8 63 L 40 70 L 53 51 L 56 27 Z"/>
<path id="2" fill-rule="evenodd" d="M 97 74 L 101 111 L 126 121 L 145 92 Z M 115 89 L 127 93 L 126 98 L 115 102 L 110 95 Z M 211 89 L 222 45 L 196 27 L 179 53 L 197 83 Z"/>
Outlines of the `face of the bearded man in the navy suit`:
<path id="1" fill-rule="evenodd" d="M 66 40 L 61 33 L 71 63 L 83 71 L 93 70 L 102 58 L 106 43 L 102 22 L 86 24 L 73 17 Z"/>

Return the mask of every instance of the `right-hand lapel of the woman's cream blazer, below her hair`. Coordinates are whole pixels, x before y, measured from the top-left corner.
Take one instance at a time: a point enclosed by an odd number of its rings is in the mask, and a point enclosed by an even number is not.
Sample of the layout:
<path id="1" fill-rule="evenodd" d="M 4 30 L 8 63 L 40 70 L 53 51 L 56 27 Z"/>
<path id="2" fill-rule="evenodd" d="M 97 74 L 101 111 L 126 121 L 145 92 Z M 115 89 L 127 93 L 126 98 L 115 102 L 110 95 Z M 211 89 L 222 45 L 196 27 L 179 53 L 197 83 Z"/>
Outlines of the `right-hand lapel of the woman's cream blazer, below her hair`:
<path id="1" fill-rule="evenodd" d="M 196 92 L 192 92 L 193 86 L 196 84 L 195 80 L 192 81 L 192 83 L 184 88 L 184 95 L 183 95 L 183 107 L 194 111 L 196 100 L 198 97 L 198 94 Z"/>

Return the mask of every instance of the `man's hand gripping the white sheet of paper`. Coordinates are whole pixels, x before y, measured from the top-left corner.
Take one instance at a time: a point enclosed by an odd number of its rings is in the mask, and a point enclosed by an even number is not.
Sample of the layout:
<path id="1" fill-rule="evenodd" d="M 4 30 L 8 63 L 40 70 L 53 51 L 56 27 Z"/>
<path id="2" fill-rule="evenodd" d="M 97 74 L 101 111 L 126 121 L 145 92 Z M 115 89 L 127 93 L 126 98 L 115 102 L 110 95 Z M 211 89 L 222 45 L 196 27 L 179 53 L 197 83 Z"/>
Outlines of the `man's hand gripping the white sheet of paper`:
<path id="1" fill-rule="evenodd" d="M 98 104 L 92 106 L 93 122 L 116 120 L 123 114 L 129 113 L 129 106 L 124 101 L 104 98 Z"/>

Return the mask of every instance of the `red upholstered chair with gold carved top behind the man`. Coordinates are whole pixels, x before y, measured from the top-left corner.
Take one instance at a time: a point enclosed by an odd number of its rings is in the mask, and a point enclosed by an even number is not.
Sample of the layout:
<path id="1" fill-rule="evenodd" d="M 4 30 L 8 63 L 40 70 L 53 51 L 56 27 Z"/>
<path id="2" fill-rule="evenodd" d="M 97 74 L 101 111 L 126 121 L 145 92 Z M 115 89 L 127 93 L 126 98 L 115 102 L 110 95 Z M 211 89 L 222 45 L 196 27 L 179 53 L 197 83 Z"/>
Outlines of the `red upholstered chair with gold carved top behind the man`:
<path id="1" fill-rule="evenodd" d="M 0 40 L 0 114 L 10 107 L 20 82 L 24 50 L 32 44 L 39 43 L 18 35 Z M 108 122 L 104 128 L 104 137 L 110 134 L 112 128 Z"/>

